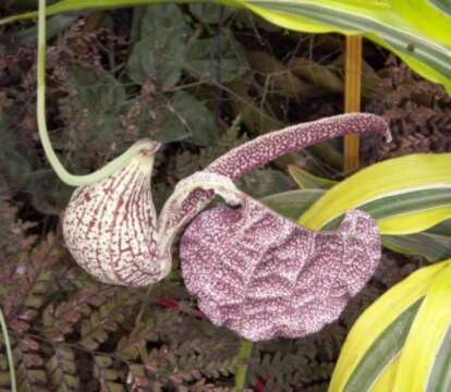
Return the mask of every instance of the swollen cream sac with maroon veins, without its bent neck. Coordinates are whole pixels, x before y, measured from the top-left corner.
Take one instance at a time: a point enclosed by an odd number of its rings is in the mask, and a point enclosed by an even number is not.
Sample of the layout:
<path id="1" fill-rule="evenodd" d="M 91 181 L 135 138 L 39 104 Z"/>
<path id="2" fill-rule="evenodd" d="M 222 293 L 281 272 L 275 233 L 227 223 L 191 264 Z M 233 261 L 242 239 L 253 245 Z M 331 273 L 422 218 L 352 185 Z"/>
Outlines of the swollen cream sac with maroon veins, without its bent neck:
<path id="1" fill-rule="evenodd" d="M 102 282 L 139 286 L 161 279 L 150 188 L 158 146 L 151 144 L 103 181 L 76 188 L 65 210 L 69 250 Z"/>

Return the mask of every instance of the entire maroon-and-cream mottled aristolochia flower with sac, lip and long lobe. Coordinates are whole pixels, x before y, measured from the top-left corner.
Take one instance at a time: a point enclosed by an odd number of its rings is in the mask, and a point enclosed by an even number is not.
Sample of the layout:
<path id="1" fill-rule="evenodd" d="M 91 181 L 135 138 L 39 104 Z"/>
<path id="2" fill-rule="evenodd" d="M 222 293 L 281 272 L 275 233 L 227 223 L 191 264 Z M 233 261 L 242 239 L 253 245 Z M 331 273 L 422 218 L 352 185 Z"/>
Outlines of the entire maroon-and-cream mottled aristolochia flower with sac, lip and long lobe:
<path id="1" fill-rule="evenodd" d="M 380 257 L 375 223 L 351 211 L 338 231 L 312 232 L 253 200 L 232 180 L 284 154 L 362 132 L 389 135 L 381 118 L 354 113 L 260 136 L 181 181 L 158 218 L 150 176 L 159 145 L 144 143 L 121 171 L 75 191 L 63 221 L 68 247 L 103 282 L 154 283 L 171 269 L 180 230 L 220 195 L 240 207 L 202 213 L 181 244 L 186 284 L 200 308 L 252 340 L 316 331 L 374 272 Z"/>

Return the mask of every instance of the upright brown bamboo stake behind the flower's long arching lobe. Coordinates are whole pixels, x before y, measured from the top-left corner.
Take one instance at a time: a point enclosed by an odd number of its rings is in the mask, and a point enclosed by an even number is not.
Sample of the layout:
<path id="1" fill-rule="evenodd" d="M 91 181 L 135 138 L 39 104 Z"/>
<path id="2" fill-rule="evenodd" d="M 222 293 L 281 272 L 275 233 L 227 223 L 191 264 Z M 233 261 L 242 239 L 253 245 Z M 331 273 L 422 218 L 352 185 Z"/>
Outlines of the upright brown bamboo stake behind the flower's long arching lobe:
<path id="1" fill-rule="evenodd" d="M 361 111 L 362 36 L 346 36 L 344 111 Z M 344 136 L 344 172 L 358 169 L 358 135 Z"/>

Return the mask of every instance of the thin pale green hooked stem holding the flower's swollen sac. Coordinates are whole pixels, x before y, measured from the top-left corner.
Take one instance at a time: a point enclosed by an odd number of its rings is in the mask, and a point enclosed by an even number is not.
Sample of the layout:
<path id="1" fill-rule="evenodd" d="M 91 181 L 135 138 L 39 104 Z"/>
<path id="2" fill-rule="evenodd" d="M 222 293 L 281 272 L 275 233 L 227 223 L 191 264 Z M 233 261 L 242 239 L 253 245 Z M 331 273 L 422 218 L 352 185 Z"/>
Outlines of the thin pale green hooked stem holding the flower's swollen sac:
<path id="1" fill-rule="evenodd" d="M 107 176 L 126 167 L 133 157 L 138 155 L 144 148 L 147 148 L 153 143 L 148 139 L 139 140 L 120 157 L 113 159 L 96 172 L 87 175 L 74 175 L 65 170 L 53 150 L 46 121 L 46 0 L 39 0 L 38 10 L 37 121 L 40 142 L 47 159 L 60 180 L 72 186 L 93 184 L 106 179 Z"/>

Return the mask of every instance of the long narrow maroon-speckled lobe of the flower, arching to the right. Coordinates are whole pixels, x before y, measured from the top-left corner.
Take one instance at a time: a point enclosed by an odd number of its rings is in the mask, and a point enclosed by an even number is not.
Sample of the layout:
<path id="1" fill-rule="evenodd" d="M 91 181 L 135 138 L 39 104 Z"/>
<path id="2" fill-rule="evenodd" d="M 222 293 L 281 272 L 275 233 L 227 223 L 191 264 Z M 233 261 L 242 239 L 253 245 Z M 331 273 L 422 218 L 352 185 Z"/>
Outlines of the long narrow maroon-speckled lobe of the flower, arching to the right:
<path id="1" fill-rule="evenodd" d="M 365 132 L 377 133 L 386 137 L 387 140 L 391 139 L 387 122 L 378 115 L 369 113 L 340 114 L 288 126 L 259 136 L 216 159 L 204 172 L 237 180 L 285 154 L 298 151 L 333 137 Z M 161 211 L 162 220 L 159 230 L 161 233 L 180 230 L 180 222 L 186 223 L 193 219 L 212 197 L 214 193 L 197 191 L 183 201 L 182 208 L 176 210 L 173 210 L 171 199 L 169 199 Z"/>

